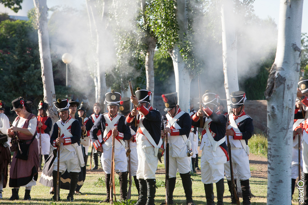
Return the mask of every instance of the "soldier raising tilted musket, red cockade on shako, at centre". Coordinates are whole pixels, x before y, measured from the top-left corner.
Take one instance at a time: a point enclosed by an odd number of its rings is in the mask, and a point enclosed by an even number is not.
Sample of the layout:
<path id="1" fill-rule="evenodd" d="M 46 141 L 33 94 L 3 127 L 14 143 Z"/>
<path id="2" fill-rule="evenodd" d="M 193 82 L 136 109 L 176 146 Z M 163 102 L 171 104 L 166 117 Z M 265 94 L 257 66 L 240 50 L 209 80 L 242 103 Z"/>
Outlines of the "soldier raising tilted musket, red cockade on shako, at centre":
<path id="1" fill-rule="evenodd" d="M 136 109 L 127 116 L 125 124 L 135 124 L 137 119 L 138 130 L 136 133 L 140 194 L 136 205 L 154 205 L 156 193 L 155 172 L 158 164 L 158 151 L 162 145 L 160 136 L 160 112 L 150 105 L 152 92 L 137 88 L 136 97 L 131 96 L 131 102 Z"/>

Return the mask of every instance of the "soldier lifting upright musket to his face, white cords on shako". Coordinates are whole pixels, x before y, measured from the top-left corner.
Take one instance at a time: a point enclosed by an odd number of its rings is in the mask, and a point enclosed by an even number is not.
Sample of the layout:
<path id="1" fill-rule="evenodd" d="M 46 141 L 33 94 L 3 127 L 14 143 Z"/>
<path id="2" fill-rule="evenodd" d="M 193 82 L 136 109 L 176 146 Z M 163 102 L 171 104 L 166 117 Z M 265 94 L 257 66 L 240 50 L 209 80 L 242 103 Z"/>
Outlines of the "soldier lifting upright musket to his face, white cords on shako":
<path id="1" fill-rule="evenodd" d="M 204 106 L 192 117 L 193 126 L 200 128 L 200 120 L 203 120 L 204 123 L 200 145 L 200 150 L 202 150 L 201 181 L 204 183 L 208 205 L 215 204 L 213 183 L 216 183 L 217 205 L 223 204 L 224 163 L 229 160 L 225 143 L 227 118 L 218 109 L 219 99 L 216 93 L 205 91 L 202 96 Z"/>

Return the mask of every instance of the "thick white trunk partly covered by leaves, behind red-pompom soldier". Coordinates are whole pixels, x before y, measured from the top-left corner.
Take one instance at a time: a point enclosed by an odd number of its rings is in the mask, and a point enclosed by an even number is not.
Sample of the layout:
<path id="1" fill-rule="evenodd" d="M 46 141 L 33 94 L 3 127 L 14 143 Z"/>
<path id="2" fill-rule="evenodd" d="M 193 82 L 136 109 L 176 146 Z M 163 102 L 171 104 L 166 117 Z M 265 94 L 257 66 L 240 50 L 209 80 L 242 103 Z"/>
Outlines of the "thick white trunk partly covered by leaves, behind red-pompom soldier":
<path id="1" fill-rule="evenodd" d="M 186 1 L 177 0 L 176 8 L 176 20 L 179 25 L 179 37 L 183 40 L 184 33 L 188 32 L 187 29 L 187 12 L 186 12 Z M 176 92 L 178 97 L 178 104 L 180 108 L 185 112 L 189 112 L 189 97 L 190 97 L 190 81 L 189 71 L 185 66 L 180 49 L 176 45 L 171 53 L 173 68 L 175 74 Z"/>

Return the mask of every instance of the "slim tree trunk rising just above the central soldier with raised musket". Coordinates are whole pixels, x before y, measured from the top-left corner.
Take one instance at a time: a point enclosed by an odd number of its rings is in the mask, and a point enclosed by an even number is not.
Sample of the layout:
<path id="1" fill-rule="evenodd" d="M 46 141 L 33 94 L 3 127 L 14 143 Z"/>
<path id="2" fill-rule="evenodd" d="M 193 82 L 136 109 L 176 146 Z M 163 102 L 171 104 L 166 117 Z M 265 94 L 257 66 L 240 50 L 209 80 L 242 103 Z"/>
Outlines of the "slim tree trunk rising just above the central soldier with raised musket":
<path id="1" fill-rule="evenodd" d="M 148 50 L 145 56 L 145 73 L 147 76 L 147 89 L 152 91 L 152 99 L 150 104 L 154 103 L 154 50 L 156 47 L 156 39 L 152 36 L 148 37 Z"/>

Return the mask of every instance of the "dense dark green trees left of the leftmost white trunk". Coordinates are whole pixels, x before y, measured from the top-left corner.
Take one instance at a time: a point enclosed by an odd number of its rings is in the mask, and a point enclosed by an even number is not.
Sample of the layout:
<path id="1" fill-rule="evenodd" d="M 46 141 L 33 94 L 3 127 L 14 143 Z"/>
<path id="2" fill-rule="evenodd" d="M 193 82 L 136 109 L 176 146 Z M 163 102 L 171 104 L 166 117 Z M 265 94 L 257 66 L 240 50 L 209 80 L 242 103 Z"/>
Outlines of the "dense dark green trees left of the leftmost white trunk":
<path id="1" fill-rule="evenodd" d="M 38 35 L 29 21 L 1 22 L 0 65 L 3 101 L 22 96 L 37 104 L 43 98 Z"/>

